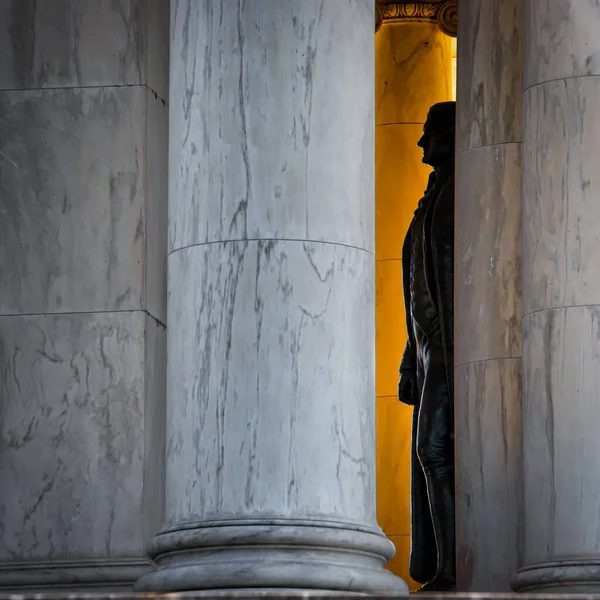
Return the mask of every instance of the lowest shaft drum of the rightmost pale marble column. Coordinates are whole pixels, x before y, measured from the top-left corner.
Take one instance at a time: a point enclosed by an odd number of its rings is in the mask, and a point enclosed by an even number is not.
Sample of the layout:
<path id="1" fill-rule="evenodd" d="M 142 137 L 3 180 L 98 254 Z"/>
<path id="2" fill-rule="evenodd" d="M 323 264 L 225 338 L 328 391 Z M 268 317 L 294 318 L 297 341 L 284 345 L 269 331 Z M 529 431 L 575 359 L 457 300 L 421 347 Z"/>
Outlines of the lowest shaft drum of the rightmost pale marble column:
<path id="1" fill-rule="evenodd" d="M 525 565 L 566 557 L 597 565 L 599 340 L 598 306 L 523 318 Z"/>

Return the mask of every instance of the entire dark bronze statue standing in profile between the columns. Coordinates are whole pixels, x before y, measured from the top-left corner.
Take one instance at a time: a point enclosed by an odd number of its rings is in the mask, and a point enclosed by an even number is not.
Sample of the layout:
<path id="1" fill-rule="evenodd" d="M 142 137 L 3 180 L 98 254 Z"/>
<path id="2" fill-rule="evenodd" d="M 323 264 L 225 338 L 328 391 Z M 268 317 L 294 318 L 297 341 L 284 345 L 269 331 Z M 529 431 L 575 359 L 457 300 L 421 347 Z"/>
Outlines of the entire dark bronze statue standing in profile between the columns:
<path id="1" fill-rule="evenodd" d="M 408 342 L 398 397 L 414 406 L 410 576 L 456 589 L 454 527 L 454 138 L 456 105 L 435 104 L 423 136 L 434 170 L 402 249 Z"/>

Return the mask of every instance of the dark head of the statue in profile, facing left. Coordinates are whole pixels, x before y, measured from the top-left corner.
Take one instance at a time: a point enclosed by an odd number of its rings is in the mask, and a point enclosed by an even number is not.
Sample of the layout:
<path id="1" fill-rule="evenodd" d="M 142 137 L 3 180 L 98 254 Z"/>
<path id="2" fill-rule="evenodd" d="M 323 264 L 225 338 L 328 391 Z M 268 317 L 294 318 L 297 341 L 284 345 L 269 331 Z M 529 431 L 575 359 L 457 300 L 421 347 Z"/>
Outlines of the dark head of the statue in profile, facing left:
<path id="1" fill-rule="evenodd" d="M 456 102 L 434 104 L 427 114 L 423 135 L 417 142 L 423 148 L 423 162 L 437 167 L 454 156 Z"/>

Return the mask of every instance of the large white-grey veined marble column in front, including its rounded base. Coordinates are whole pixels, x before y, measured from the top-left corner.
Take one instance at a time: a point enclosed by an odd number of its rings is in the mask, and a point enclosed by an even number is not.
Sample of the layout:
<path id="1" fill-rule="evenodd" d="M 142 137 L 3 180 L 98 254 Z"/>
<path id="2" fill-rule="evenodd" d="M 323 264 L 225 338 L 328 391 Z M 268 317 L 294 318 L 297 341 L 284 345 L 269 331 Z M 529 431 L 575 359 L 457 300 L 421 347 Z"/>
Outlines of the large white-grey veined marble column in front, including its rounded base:
<path id="1" fill-rule="evenodd" d="M 406 590 L 376 521 L 373 4 L 171 4 L 166 523 L 140 590 Z"/>

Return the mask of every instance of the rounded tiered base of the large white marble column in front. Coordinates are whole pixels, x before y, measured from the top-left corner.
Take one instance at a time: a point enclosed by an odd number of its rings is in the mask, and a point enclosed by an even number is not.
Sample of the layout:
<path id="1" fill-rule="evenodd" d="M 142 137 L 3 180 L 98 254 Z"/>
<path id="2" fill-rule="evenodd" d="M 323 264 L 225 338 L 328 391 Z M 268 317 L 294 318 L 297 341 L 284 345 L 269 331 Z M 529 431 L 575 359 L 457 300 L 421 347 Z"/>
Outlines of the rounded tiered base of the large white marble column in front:
<path id="1" fill-rule="evenodd" d="M 394 546 L 381 530 L 319 521 L 219 521 L 165 530 L 150 555 L 158 568 L 136 592 L 315 590 L 408 592 L 384 569 Z"/>

